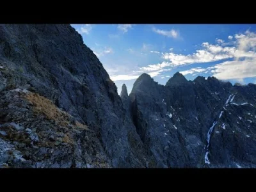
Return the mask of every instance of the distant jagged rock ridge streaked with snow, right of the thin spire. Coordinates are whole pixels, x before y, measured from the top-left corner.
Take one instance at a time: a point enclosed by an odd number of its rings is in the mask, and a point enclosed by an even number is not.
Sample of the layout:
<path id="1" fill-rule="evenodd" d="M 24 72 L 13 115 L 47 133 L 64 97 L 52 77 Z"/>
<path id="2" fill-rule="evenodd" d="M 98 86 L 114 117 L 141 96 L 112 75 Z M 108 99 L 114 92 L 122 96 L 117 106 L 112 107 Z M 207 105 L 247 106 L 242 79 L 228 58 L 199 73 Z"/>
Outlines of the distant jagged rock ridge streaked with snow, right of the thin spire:
<path id="1" fill-rule="evenodd" d="M 129 97 L 134 125 L 161 167 L 255 167 L 256 85 L 177 72 L 157 84 L 147 74 Z"/>

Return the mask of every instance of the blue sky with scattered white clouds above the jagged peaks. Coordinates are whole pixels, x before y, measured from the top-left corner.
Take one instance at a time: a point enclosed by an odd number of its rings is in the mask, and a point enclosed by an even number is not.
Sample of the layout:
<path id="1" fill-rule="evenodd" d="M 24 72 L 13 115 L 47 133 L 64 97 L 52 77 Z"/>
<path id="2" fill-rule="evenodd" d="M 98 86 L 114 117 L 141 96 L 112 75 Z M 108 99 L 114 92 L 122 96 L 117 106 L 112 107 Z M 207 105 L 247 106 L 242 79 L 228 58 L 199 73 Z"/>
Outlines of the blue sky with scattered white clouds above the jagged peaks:
<path id="1" fill-rule="evenodd" d="M 143 73 L 256 83 L 256 24 L 71 24 L 121 92 Z"/>

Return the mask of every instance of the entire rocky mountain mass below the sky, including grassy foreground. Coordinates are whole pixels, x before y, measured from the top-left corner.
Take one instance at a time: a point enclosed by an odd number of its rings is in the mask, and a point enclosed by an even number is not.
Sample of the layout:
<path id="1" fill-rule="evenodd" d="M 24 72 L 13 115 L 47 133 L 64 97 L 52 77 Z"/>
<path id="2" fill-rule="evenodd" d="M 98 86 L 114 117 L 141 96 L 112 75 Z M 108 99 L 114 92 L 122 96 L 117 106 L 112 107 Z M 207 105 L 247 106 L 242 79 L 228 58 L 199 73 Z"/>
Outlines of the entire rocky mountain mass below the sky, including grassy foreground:
<path id="1" fill-rule="evenodd" d="M 256 85 L 214 77 L 127 94 L 70 25 L 0 25 L 0 167 L 255 167 Z"/>

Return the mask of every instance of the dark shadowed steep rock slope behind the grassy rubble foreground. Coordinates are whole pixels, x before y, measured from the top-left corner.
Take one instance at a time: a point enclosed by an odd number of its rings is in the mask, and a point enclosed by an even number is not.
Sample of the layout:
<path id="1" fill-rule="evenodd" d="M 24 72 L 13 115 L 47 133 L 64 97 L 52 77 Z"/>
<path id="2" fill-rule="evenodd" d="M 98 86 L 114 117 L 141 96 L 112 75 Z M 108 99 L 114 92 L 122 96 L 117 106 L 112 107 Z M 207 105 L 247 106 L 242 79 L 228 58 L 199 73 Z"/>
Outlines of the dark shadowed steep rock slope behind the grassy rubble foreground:
<path id="1" fill-rule="evenodd" d="M 115 84 L 70 25 L 1 24 L 0 66 L 0 92 L 20 88 L 52 100 L 95 132 L 112 166 L 147 166 L 145 158 L 150 157 L 134 153 L 143 146 L 126 118 Z M 17 123 L 1 115 L 0 124 L 10 121 Z"/>

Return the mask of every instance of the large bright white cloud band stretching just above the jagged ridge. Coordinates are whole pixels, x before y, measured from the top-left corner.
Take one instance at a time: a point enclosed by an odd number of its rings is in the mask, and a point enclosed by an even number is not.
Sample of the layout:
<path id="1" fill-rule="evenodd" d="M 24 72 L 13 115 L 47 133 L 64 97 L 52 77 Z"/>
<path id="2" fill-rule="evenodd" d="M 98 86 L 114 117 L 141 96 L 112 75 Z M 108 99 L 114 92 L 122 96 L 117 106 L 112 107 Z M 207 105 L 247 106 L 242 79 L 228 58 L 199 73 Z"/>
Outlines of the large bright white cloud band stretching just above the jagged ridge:
<path id="1" fill-rule="evenodd" d="M 231 40 L 231 39 L 230 39 Z M 218 41 L 218 40 L 217 40 Z M 218 79 L 238 79 L 242 81 L 246 77 L 256 77 L 256 33 L 246 31 L 243 34 L 235 34 L 232 41 L 228 43 L 209 44 L 204 42 L 201 48 L 192 54 L 176 54 L 174 52 L 165 52 L 163 58 L 167 61 L 161 63 L 139 67 L 132 74 L 112 76 L 115 81 L 136 79 L 143 72 L 146 72 L 151 77 L 159 76 L 162 72 L 172 70 L 180 65 L 191 65 L 193 63 L 209 63 L 219 61 L 219 64 L 212 67 L 202 68 L 196 67 L 189 70 L 184 70 L 184 76 L 191 74 L 196 76 L 200 73 L 210 73 Z M 227 46 L 232 45 L 232 46 Z M 143 44 L 142 50 L 148 51 L 150 46 Z M 152 49 L 151 49 L 152 50 Z M 173 49 L 171 48 L 170 51 Z M 159 54 L 157 51 L 150 51 Z M 223 61 L 232 59 L 232 61 Z M 169 77 L 169 76 L 166 76 Z M 161 76 L 163 78 L 163 76 Z"/>

